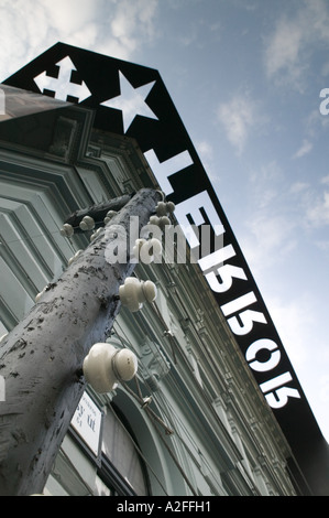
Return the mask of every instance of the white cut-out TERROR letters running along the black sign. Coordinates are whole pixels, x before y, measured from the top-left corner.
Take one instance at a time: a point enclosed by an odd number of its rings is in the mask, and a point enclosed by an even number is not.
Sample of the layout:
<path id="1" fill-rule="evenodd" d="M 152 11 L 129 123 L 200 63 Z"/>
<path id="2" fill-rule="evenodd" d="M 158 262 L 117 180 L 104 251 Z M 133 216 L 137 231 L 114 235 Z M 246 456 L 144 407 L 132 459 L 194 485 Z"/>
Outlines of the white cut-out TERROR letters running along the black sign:
<path id="1" fill-rule="evenodd" d="M 190 159 L 189 155 L 188 158 Z M 172 162 L 171 159 L 169 161 Z M 171 179 L 173 179 L 173 175 L 175 175 L 173 169 L 166 170 L 165 163 L 160 164 L 155 160 L 153 160 L 152 165 L 153 172 L 164 188 L 165 194 L 172 194 L 173 185 L 168 176 L 171 175 Z M 186 166 L 186 163 L 184 166 Z M 176 171 L 176 173 L 178 172 L 182 174 L 182 170 Z M 191 252 L 196 257 L 196 262 L 198 262 L 210 289 L 219 301 L 221 311 L 232 333 L 237 336 L 238 341 L 239 337 L 242 337 L 244 342 L 249 336 L 253 336 L 250 342 L 246 342 L 244 350 L 245 359 L 255 374 L 270 373 L 268 379 L 260 382 L 260 388 L 267 403 L 273 409 L 279 409 L 287 404 L 289 398 L 299 399 L 299 391 L 295 387 L 286 386 L 288 382 L 294 382 L 295 379 L 289 370 L 285 371 L 282 361 L 284 350 L 279 339 L 277 338 L 276 343 L 266 337 L 266 333 L 272 324 L 267 321 L 263 304 L 257 299 L 254 290 L 250 290 L 252 284 L 246 268 L 244 268 L 241 261 L 241 266 L 228 262 L 234 258 L 237 259 L 235 245 L 234 242 L 224 245 L 223 237 L 227 228 L 219 217 L 209 192 L 207 190 L 201 191 L 176 204 L 175 216 L 190 246 Z M 202 246 L 202 235 L 205 233 L 196 231 L 202 225 L 206 225 L 208 228 L 210 226 L 212 229 L 212 240 L 215 242 L 212 251 L 209 250 L 208 239 L 207 247 Z M 235 283 L 238 280 L 244 282 L 245 289 L 237 296 Z M 234 293 L 232 299 L 228 296 L 230 292 Z M 224 303 L 221 303 L 221 298 L 226 301 Z M 257 339 L 254 339 L 255 327 L 257 330 Z M 261 360 L 260 357 L 263 358 L 264 354 L 265 360 Z M 281 368 L 281 363 L 283 367 L 278 373 L 277 369 Z M 274 368 L 276 369 L 275 376 L 272 375 L 273 378 L 271 378 L 271 371 Z"/>

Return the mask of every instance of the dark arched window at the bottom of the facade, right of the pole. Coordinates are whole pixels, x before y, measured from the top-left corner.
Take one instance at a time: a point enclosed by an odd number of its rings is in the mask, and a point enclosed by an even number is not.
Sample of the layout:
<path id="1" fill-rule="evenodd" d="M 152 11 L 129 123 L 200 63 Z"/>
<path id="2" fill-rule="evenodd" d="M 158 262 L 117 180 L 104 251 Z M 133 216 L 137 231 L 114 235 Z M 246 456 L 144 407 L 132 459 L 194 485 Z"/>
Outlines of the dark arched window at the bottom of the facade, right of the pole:
<path id="1" fill-rule="evenodd" d="M 122 412 L 113 403 L 102 412 L 98 434 L 99 432 L 101 449 L 97 453 L 90 447 L 90 443 L 86 443 L 77 433 L 75 427 L 69 428 L 46 483 L 46 494 L 150 495 L 146 467 L 139 453 L 134 434 Z"/>

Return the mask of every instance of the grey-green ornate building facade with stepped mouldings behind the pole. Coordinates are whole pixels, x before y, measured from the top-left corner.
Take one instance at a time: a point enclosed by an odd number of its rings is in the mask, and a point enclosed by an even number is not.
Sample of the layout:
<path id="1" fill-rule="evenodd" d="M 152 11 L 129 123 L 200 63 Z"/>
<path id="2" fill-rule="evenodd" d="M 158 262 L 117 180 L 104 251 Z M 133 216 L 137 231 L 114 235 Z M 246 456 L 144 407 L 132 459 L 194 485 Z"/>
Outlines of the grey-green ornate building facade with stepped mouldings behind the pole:
<path id="1" fill-rule="evenodd" d="M 160 187 L 133 139 L 92 122 L 72 105 L 0 123 L 1 335 L 89 244 L 91 231 L 61 234 L 70 214 Z M 44 494 L 298 495 L 289 445 L 187 244 L 134 276 L 157 298 L 122 306 L 107 342 L 135 353 L 138 375 L 109 393 L 86 386 Z"/>

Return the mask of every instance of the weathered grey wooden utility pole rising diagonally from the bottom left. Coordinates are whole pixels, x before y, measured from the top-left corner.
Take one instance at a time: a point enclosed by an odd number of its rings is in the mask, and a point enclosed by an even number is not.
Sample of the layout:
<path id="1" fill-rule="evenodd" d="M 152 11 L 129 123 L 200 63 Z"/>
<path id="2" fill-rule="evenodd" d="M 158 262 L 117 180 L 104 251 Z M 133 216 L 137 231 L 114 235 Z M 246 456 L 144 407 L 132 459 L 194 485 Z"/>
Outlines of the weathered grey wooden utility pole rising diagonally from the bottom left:
<path id="1" fill-rule="evenodd" d="M 127 246 L 130 218 L 138 217 L 141 230 L 161 199 L 157 191 L 138 192 L 1 342 L 1 496 L 43 492 L 85 390 L 78 374 L 84 358 L 109 336 L 120 309 L 119 287 L 135 266 L 129 258 L 110 265 L 106 247 L 111 239 Z"/>

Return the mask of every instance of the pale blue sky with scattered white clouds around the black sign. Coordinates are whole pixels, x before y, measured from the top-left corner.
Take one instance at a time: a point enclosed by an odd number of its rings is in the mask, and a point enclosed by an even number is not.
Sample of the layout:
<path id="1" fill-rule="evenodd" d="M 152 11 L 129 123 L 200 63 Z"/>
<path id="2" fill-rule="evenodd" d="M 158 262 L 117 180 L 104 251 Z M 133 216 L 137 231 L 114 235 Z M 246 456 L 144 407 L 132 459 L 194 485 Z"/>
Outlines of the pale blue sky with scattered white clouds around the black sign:
<path id="1" fill-rule="evenodd" d="M 160 72 L 329 441 L 329 1 L 0 0 L 0 82 L 58 41 Z"/>

